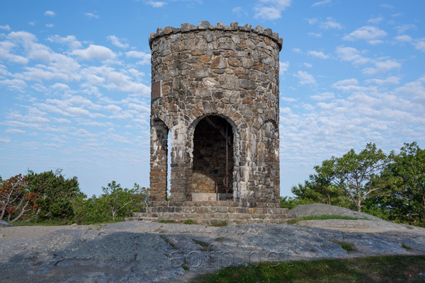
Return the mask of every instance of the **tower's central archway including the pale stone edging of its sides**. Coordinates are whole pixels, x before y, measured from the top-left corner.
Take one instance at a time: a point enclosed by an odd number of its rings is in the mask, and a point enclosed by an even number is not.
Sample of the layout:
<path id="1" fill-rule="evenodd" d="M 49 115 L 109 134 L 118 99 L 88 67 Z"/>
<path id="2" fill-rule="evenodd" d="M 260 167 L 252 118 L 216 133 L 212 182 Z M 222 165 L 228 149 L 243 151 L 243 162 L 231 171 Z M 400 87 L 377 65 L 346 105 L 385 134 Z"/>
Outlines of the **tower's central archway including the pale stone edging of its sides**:
<path id="1" fill-rule="evenodd" d="M 188 127 L 189 192 L 187 200 L 235 200 L 239 185 L 239 131 L 220 114 L 202 115 Z"/>

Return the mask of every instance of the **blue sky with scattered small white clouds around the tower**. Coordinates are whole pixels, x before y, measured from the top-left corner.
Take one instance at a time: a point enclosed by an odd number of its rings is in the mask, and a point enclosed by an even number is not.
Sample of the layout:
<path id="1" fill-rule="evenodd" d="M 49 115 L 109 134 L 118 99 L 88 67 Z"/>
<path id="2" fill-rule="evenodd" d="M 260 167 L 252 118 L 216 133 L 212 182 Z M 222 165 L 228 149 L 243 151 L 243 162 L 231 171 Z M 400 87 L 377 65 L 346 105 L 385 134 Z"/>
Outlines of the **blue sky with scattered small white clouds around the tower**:
<path id="1" fill-rule="evenodd" d="M 3 1 L 0 175 L 62 168 L 87 195 L 149 186 L 157 28 L 232 21 L 283 37 L 280 195 L 368 142 L 425 147 L 425 1 Z"/>

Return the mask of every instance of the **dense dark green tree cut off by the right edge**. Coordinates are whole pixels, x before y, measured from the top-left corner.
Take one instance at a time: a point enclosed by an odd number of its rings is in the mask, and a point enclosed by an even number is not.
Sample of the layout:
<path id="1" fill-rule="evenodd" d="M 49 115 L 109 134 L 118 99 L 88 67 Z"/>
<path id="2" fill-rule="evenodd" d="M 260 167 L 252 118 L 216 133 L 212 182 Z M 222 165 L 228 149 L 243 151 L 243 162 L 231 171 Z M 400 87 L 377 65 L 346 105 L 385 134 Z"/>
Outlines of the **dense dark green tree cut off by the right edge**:
<path id="1" fill-rule="evenodd" d="M 395 178 L 382 203 L 394 220 L 425 226 L 425 150 L 404 144 L 383 178 Z"/>

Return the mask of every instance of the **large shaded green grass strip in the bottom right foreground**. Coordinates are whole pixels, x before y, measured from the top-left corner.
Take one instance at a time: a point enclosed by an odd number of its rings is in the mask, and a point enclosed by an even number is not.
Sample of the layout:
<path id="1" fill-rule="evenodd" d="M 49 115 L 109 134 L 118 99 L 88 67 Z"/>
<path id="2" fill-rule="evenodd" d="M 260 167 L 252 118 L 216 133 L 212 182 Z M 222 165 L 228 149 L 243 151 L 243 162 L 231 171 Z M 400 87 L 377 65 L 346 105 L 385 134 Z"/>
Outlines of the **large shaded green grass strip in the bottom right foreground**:
<path id="1" fill-rule="evenodd" d="M 424 266 L 424 255 L 273 262 L 227 267 L 191 282 L 424 282 Z"/>

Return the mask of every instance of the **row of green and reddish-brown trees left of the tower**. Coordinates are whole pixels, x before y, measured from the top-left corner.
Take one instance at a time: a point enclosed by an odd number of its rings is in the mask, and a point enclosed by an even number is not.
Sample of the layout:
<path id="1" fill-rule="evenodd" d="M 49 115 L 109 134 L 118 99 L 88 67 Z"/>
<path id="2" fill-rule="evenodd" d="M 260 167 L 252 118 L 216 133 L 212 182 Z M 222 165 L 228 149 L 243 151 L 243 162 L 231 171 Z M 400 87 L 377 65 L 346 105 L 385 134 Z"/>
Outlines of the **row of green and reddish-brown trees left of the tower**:
<path id="1" fill-rule="evenodd" d="M 77 177 L 65 178 L 62 170 L 0 176 L 0 219 L 10 222 L 93 224 L 122 221 L 147 204 L 148 190 L 135 183 L 132 189 L 112 181 L 102 195 L 87 197 Z"/>

